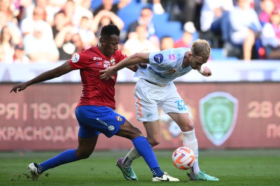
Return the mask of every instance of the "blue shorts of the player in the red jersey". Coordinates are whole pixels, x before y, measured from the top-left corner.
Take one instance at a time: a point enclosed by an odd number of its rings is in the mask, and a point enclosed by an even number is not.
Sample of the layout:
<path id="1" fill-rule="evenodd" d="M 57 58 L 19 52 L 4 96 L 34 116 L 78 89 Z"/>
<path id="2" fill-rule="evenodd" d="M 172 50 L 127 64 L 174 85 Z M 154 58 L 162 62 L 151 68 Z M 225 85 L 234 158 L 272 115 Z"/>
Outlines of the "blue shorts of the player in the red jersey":
<path id="1" fill-rule="evenodd" d="M 114 136 L 125 122 L 125 117 L 106 106 L 78 106 L 75 114 L 80 127 L 78 136 L 81 138 L 90 138 L 100 133 L 107 137 Z"/>

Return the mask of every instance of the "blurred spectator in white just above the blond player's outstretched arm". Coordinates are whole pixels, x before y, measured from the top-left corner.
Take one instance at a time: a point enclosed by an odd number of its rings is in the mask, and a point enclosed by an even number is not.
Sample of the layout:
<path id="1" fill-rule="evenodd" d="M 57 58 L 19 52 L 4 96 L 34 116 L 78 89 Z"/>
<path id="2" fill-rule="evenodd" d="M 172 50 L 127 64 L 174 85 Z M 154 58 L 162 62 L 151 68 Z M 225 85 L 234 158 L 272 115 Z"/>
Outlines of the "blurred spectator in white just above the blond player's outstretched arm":
<path id="1" fill-rule="evenodd" d="M 156 52 L 159 51 L 151 41 L 148 40 L 148 30 L 145 25 L 136 27 L 137 38 L 128 39 L 123 46 L 123 53 L 130 56 L 137 52 Z"/>

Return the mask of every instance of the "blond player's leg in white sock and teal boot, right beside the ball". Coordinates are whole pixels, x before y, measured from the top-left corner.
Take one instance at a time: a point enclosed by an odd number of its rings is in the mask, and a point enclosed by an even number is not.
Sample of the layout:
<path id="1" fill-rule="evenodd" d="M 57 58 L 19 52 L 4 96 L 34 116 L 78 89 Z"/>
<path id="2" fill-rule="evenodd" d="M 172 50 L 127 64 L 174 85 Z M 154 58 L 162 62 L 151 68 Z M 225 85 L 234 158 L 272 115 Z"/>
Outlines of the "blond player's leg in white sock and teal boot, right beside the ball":
<path id="1" fill-rule="evenodd" d="M 219 179 L 200 171 L 199 168 L 199 147 L 195 136 L 194 125 L 187 113 L 168 113 L 168 115 L 178 124 L 183 133 L 183 145 L 189 147 L 195 155 L 194 164 L 190 170 L 191 180 L 218 181 Z"/>

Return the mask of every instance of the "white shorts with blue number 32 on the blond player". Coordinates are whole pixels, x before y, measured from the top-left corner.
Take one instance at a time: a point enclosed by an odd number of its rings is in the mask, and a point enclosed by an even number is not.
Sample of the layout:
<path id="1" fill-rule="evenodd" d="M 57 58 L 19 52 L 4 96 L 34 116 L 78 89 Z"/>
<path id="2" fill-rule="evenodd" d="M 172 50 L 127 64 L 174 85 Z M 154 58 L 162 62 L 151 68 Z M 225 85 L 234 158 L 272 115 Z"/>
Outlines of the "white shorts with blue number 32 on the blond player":
<path id="1" fill-rule="evenodd" d="M 161 87 L 139 79 L 134 89 L 134 98 L 137 120 L 141 122 L 158 120 L 158 107 L 165 114 L 188 113 L 174 83 Z"/>

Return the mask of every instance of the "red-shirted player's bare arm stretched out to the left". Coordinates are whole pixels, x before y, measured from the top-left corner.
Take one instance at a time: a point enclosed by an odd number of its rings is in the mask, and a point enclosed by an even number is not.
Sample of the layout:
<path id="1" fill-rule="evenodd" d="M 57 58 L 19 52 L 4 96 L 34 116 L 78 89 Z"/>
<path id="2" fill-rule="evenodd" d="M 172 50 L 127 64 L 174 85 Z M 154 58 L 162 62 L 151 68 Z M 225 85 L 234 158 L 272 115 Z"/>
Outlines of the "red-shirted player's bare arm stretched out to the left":
<path id="1" fill-rule="evenodd" d="M 15 85 L 11 89 L 10 93 L 13 92 L 13 91 L 15 93 L 17 93 L 17 91 L 20 92 L 20 91 L 24 90 L 26 87 L 28 87 L 30 85 L 33 85 L 35 83 L 40 83 L 40 82 L 44 82 L 44 81 L 47 81 L 47 80 L 51 80 L 53 78 L 58 78 L 58 77 L 60 77 L 62 75 L 65 75 L 65 73 L 68 73 L 72 70 L 73 69 L 71 68 L 71 66 L 69 64 L 69 61 L 66 61 L 65 63 L 63 63 L 59 67 L 53 68 L 53 69 L 48 70 L 48 71 L 45 71 L 45 72 L 41 73 L 39 76 L 37 76 L 36 78 L 34 78 L 30 81 Z"/>

